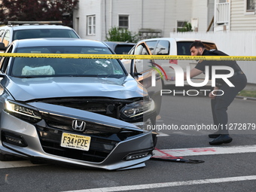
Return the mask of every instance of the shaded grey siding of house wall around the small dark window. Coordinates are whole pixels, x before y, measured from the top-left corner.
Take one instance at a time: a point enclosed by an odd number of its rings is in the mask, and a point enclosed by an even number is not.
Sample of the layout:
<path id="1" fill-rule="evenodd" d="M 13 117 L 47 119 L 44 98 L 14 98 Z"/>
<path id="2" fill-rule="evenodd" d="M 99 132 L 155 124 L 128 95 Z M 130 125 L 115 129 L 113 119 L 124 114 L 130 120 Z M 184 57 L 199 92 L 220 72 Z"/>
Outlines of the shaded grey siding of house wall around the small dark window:
<path id="1" fill-rule="evenodd" d="M 187 6 L 184 7 L 184 4 Z M 113 0 L 112 25 L 118 26 L 118 14 L 130 15 L 130 31 L 139 32 L 139 29 L 160 29 L 162 36 L 169 36 L 169 32 L 176 28 L 177 20 L 191 18 L 191 1 L 167 0 L 133 0 L 123 2 Z M 125 8 L 125 9 L 123 9 Z"/>

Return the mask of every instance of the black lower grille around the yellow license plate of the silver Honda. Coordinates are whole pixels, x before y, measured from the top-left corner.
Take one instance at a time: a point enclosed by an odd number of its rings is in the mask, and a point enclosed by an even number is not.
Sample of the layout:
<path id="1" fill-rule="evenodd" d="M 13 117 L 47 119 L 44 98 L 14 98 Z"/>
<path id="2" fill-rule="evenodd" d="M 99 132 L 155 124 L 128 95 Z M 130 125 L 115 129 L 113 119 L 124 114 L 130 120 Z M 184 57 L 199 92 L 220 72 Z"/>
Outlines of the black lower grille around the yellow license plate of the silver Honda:
<path id="1" fill-rule="evenodd" d="M 43 126 L 37 126 L 37 130 L 41 146 L 46 153 L 60 157 L 68 157 L 75 160 L 84 160 L 94 163 L 102 162 L 118 143 L 117 141 L 111 139 L 91 136 L 89 151 L 62 148 L 60 146 L 63 133 L 62 130 Z M 65 133 L 69 132 L 65 131 Z"/>

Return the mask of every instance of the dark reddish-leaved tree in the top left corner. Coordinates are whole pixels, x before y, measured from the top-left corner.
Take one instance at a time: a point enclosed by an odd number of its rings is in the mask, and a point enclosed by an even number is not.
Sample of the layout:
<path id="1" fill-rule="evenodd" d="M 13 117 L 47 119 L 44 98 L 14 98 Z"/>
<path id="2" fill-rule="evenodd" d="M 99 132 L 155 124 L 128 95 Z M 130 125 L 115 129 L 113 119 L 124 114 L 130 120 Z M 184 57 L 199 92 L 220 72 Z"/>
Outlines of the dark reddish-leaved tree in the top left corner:
<path id="1" fill-rule="evenodd" d="M 70 26 L 72 12 L 77 4 L 78 0 L 2 0 L 0 22 L 62 20 L 64 24 Z"/>

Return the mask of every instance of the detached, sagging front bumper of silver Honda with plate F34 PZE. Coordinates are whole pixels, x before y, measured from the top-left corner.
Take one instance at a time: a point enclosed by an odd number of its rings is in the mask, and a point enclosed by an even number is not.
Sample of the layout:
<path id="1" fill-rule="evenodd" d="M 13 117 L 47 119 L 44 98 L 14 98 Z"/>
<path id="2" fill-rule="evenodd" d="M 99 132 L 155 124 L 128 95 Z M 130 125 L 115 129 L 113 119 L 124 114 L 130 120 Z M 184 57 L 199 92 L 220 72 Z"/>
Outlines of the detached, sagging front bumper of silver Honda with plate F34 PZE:
<path id="1" fill-rule="evenodd" d="M 41 119 L 28 122 L 2 111 L 2 154 L 109 170 L 142 167 L 151 158 L 154 136 L 131 123 L 60 105 L 43 102 L 29 105 L 39 111 L 34 114 Z M 73 120 L 78 120 L 78 126 L 86 123 L 85 129 L 74 129 Z M 88 149 L 77 149 L 75 143 L 62 145 L 65 133 L 83 139 L 89 137 Z"/>

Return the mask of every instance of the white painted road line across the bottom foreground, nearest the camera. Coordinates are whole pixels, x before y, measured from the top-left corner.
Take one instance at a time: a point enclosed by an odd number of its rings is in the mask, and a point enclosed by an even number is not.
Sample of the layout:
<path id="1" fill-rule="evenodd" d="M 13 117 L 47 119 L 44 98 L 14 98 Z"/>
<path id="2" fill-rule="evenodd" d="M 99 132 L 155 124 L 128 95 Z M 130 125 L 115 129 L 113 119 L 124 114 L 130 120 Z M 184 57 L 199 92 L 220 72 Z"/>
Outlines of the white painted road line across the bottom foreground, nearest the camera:
<path id="1" fill-rule="evenodd" d="M 191 181 L 175 181 L 175 182 L 165 182 L 165 183 L 154 183 L 154 184 L 136 184 L 136 185 L 126 185 L 120 187 L 102 187 L 102 188 L 92 188 L 85 190 L 69 190 L 66 192 L 110 192 L 110 191 L 122 191 L 122 190 L 145 190 L 154 189 L 160 187 L 177 187 L 177 186 L 187 186 L 193 184 L 215 184 L 215 183 L 225 183 L 225 182 L 235 182 L 235 181 L 251 181 L 256 180 L 256 175 L 241 176 L 241 177 L 229 177 L 229 178 L 209 178 Z"/>

